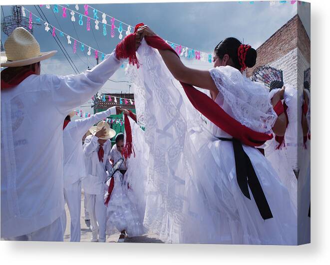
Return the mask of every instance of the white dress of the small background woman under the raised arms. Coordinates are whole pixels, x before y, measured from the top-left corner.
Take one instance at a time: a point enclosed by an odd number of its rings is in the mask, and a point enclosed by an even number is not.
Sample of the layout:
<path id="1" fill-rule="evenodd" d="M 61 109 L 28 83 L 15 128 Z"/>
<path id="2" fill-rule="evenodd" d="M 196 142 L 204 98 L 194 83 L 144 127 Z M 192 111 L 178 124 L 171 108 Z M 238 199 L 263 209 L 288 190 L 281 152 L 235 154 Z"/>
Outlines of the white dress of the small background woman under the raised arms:
<path id="1" fill-rule="evenodd" d="M 114 145 L 110 152 L 110 159 L 115 164 L 120 158 L 122 156 L 116 145 Z M 119 169 L 127 169 L 125 162 L 121 164 Z M 107 206 L 106 234 L 118 234 L 125 230 L 129 237 L 140 236 L 143 234 L 143 226 L 134 201 L 131 201 L 128 197 L 129 183 L 126 181 L 126 174 L 123 175 L 118 170 L 113 177 L 114 188 Z"/>

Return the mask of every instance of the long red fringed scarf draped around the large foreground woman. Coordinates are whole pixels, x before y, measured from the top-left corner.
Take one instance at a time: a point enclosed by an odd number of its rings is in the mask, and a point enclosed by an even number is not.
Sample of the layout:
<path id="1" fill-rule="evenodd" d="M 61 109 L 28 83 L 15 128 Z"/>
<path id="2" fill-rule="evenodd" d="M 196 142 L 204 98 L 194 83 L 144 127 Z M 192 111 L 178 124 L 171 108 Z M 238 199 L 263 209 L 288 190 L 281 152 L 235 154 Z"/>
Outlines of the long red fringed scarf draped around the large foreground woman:
<path id="1" fill-rule="evenodd" d="M 139 26 L 143 23 L 137 24 L 135 26 L 135 31 L 125 37 L 116 47 L 116 56 L 120 58 L 129 58 L 139 65 L 135 53 L 135 44 L 132 45 L 133 40 L 135 41 L 136 31 Z M 171 48 L 161 37 L 145 36 L 145 40 L 153 48 L 170 50 L 179 56 L 175 50 Z M 127 43 L 127 44 L 126 44 Z M 133 63 L 132 63 L 133 64 Z M 188 99 L 193 104 L 193 106 L 201 112 L 206 118 L 217 125 L 220 129 L 230 134 L 233 138 L 240 140 L 243 144 L 249 146 L 260 146 L 264 144 L 267 140 L 273 138 L 273 134 L 261 133 L 250 129 L 249 127 L 241 124 L 239 121 L 231 117 L 227 112 L 225 112 L 216 102 L 214 102 L 210 97 L 208 97 L 203 92 L 199 91 L 190 84 L 185 84 L 180 82 Z M 128 120 L 128 119 L 127 119 Z M 125 130 L 126 130 L 126 120 L 125 120 Z M 127 138 L 127 135 L 126 135 Z"/>

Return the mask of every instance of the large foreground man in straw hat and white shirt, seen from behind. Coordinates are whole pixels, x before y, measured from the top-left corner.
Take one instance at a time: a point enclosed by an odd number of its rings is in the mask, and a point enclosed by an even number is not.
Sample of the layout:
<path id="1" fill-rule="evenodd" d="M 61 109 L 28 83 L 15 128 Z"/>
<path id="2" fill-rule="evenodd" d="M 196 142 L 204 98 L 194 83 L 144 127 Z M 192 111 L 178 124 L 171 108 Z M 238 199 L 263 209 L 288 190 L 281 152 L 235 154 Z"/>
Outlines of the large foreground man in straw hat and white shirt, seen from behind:
<path id="1" fill-rule="evenodd" d="M 18 27 L 4 43 L 1 71 L 1 237 L 63 241 L 62 130 L 72 108 L 90 99 L 120 67 L 115 52 L 78 75 L 40 75 L 36 39 Z"/>

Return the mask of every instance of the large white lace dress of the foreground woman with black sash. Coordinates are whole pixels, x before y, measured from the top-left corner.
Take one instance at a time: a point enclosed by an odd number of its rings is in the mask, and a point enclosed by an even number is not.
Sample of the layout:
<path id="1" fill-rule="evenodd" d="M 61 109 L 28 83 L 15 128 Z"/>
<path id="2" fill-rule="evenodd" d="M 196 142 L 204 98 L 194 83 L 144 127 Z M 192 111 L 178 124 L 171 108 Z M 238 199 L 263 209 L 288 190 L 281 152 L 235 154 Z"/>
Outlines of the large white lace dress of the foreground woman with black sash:
<path id="1" fill-rule="evenodd" d="M 149 147 L 144 226 L 170 243 L 297 244 L 297 220 L 288 190 L 267 159 L 243 145 L 274 216 L 263 220 L 253 197 L 246 198 L 237 184 L 232 142 L 217 139 L 231 136 L 211 122 L 205 126 L 158 51 L 145 41 L 138 59 L 142 66 L 130 67 L 128 74 L 134 81 L 137 117 L 146 128 Z M 230 66 L 210 72 L 220 91 L 215 101 L 228 114 L 254 130 L 271 130 L 276 114 L 266 92 L 259 97 L 261 89 Z M 222 89 L 230 83 L 236 89 L 249 85 L 246 88 L 256 94 L 251 97 L 242 90 L 229 95 L 229 90 Z M 227 93 L 226 99 L 222 92 Z M 237 96 L 259 101 L 248 106 L 250 111 L 241 111 L 239 107 L 246 104 Z M 237 108 L 231 109 L 233 105 Z"/>

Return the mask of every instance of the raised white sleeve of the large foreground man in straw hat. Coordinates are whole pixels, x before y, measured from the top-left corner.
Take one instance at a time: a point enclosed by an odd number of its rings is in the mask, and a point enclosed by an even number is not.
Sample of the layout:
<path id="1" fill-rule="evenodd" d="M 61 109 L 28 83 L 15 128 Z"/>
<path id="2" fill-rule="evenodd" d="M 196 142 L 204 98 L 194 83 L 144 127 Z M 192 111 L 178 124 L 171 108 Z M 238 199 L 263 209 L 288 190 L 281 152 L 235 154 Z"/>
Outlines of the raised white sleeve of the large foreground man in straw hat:
<path id="1" fill-rule="evenodd" d="M 59 112 L 66 115 L 72 108 L 90 99 L 120 67 L 121 61 L 113 51 L 93 67 L 77 75 L 43 75 L 44 83 L 51 91 L 52 101 Z"/>

